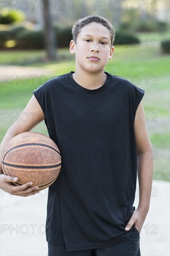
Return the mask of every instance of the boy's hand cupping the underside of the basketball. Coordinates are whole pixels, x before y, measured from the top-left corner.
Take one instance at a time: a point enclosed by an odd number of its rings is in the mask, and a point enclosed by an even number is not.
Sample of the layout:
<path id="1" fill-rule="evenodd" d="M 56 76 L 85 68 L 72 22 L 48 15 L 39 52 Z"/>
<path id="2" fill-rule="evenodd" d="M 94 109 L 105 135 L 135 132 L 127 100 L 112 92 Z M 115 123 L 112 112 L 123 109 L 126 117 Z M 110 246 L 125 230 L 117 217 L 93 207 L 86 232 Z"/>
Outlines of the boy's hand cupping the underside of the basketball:
<path id="1" fill-rule="evenodd" d="M 21 186 L 15 186 L 13 185 L 13 182 L 16 182 L 18 178 L 11 177 L 8 175 L 1 174 L 0 175 L 0 189 L 4 190 L 5 192 L 11 194 L 11 195 L 19 195 L 19 196 L 29 196 L 39 193 L 37 189 L 38 186 L 34 186 L 31 188 L 28 188 L 31 184 L 31 182 L 27 182 Z"/>

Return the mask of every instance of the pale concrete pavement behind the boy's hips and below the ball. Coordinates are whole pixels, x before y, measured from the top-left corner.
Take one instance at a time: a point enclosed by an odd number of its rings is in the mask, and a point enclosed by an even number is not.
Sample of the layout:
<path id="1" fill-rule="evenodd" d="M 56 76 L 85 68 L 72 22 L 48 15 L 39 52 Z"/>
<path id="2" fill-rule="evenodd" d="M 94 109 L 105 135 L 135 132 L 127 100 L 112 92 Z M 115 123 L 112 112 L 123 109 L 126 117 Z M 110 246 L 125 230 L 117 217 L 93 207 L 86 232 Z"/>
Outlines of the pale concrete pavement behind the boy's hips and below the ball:
<path id="1" fill-rule="evenodd" d="M 30 197 L 0 193 L 0 256 L 47 256 L 47 189 Z M 138 193 L 136 208 L 137 203 Z M 140 234 L 141 256 L 170 256 L 169 217 L 170 183 L 154 180 L 150 210 Z"/>

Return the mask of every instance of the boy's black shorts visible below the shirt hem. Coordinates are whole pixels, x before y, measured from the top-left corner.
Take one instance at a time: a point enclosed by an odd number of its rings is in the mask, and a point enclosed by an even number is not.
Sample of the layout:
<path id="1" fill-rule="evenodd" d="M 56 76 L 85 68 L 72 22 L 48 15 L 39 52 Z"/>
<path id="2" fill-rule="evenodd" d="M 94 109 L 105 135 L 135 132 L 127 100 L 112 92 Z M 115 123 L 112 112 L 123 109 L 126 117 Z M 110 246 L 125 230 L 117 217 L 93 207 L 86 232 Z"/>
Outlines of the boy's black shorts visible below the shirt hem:
<path id="1" fill-rule="evenodd" d="M 140 236 L 136 228 L 122 243 L 99 249 L 66 251 L 64 245 L 48 243 L 48 256 L 140 256 Z"/>

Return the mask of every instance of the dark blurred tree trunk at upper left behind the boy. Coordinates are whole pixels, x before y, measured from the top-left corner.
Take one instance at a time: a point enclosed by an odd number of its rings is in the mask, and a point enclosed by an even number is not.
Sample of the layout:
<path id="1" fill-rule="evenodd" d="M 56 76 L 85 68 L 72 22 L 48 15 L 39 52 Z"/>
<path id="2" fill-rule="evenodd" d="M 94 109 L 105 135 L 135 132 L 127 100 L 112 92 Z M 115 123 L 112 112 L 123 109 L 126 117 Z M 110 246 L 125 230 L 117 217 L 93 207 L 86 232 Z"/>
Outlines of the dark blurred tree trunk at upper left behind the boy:
<path id="1" fill-rule="evenodd" d="M 54 31 L 52 28 L 52 15 L 50 13 L 50 0 L 43 0 L 44 1 L 44 11 L 43 18 L 44 18 L 44 34 L 46 39 L 46 51 L 47 51 L 47 59 L 49 61 L 56 60 L 56 38 L 54 35 Z"/>

